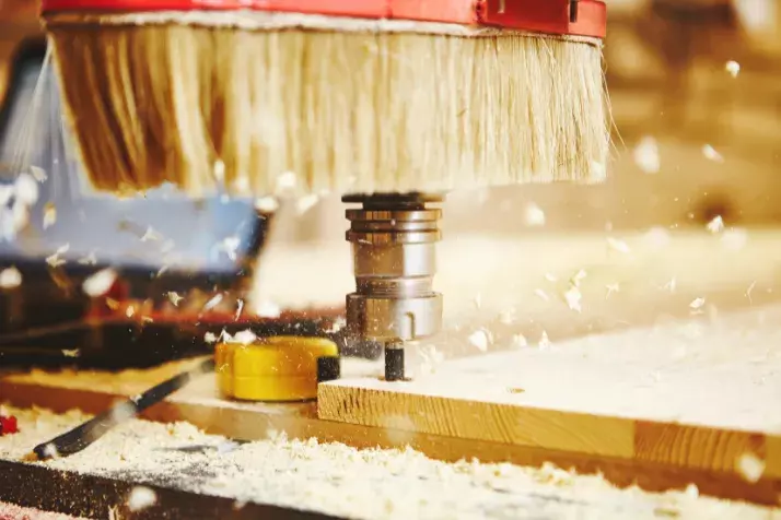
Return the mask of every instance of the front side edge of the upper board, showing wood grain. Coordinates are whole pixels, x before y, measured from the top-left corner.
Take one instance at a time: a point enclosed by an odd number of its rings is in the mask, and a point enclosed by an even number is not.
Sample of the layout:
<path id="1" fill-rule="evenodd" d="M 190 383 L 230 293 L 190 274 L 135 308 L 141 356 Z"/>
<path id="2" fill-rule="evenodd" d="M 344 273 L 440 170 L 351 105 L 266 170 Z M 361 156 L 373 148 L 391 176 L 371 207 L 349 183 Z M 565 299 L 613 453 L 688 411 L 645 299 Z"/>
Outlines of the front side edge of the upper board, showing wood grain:
<path id="1" fill-rule="evenodd" d="M 761 433 L 688 425 L 672 421 L 637 421 L 558 410 L 489 404 L 435 395 L 419 398 L 400 391 L 351 387 L 345 385 L 345 381 L 322 383 L 318 389 L 317 411 L 318 417 L 324 421 L 375 428 L 400 428 L 419 434 L 450 434 L 446 436 L 576 452 L 592 457 L 631 459 L 678 468 L 681 471 L 732 473 L 738 477 L 741 458 L 744 454 L 756 454 L 766 461 L 767 477 L 781 477 L 781 438 Z M 501 417 L 498 417 L 498 414 Z M 445 416 L 447 421 L 444 424 L 436 424 L 436 418 L 432 418 L 435 415 Z M 483 421 L 479 421 L 480 417 Z M 471 421 L 475 422 L 474 425 L 463 424 Z M 520 427 L 508 426 L 508 421 L 514 422 Z M 499 435 L 490 429 L 480 430 L 480 427 L 488 422 L 502 422 L 508 427 Z M 528 425 L 538 428 L 539 433 L 531 435 L 524 432 L 523 428 Z M 599 430 L 609 430 L 609 433 Z M 558 437 L 544 435 L 548 432 L 558 434 Z M 583 441 L 583 438 L 587 441 Z M 630 444 L 629 448 L 627 441 Z M 599 442 L 602 445 L 596 446 Z"/>

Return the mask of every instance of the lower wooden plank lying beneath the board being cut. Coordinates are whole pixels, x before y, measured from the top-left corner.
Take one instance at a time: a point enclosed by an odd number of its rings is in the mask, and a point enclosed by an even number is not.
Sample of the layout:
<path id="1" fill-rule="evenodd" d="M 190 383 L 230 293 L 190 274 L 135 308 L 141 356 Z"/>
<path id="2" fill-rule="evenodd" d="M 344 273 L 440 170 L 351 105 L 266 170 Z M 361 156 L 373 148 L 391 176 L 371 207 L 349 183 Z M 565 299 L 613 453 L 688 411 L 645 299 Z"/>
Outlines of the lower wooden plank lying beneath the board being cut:
<path id="1" fill-rule="evenodd" d="M 149 370 L 107 373 L 43 373 L 8 375 L 0 378 L 2 400 L 15 406 L 42 406 L 57 412 L 80 409 L 96 413 L 117 399 L 137 394 L 141 389 L 185 368 L 188 363 L 168 364 Z M 357 375 L 376 369 L 376 365 L 348 363 L 345 371 Z M 404 418 L 394 427 L 370 427 L 317 418 L 314 403 L 264 404 L 224 401 L 215 381 L 205 376 L 190 387 L 151 407 L 145 418 L 158 422 L 184 421 L 206 433 L 246 440 L 264 439 L 270 432 L 285 432 L 291 438 L 316 437 L 322 442 L 343 442 L 357 448 L 404 448 L 409 446 L 434 459 L 457 461 L 477 458 L 486 462 L 512 462 L 540 466 L 552 462 L 574 468 L 580 473 L 599 472 L 613 484 L 625 487 L 637 483 L 644 489 L 683 489 L 690 483 L 703 495 L 776 505 L 781 481 L 748 483 L 734 472 L 703 470 L 658 463 L 643 459 L 594 456 L 585 451 L 543 448 L 537 445 L 493 442 L 468 438 L 430 435 L 405 428 Z M 544 442 L 540 442 L 543 445 Z M 777 450 L 778 452 L 778 450 Z"/>

